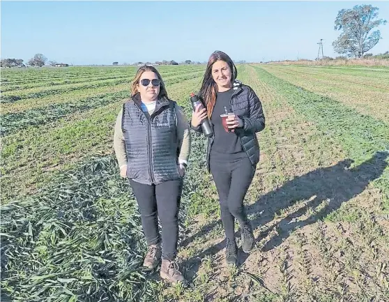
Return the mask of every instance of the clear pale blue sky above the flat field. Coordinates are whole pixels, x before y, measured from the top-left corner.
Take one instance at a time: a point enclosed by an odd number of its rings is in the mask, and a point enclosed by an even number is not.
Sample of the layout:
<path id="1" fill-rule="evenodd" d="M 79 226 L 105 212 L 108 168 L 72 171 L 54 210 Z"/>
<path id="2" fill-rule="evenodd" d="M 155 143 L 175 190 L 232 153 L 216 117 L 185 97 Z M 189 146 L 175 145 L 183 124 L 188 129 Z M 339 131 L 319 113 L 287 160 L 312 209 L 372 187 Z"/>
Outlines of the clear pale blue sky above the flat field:
<path id="1" fill-rule="evenodd" d="M 379 8 L 379 44 L 389 50 L 389 1 L 1 1 L 1 58 L 42 53 L 82 64 L 206 61 L 214 50 L 234 60 L 314 59 L 332 42 L 337 13 Z"/>

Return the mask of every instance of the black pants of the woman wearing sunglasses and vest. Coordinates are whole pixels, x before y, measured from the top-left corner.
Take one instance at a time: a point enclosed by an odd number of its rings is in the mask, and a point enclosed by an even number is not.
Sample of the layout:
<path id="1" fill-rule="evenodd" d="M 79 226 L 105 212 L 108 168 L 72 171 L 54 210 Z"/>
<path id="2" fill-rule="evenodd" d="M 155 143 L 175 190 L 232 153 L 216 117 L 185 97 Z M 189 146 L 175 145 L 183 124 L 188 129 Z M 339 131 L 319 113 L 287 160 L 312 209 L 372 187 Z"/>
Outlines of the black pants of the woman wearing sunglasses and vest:
<path id="1" fill-rule="evenodd" d="M 162 228 L 162 258 L 176 257 L 178 242 L 178 209 L 183 180 L 145 185 L 130 179 L 132 192 L 139 206 L 147 245 L 160 243 L 158 217 Z"/>

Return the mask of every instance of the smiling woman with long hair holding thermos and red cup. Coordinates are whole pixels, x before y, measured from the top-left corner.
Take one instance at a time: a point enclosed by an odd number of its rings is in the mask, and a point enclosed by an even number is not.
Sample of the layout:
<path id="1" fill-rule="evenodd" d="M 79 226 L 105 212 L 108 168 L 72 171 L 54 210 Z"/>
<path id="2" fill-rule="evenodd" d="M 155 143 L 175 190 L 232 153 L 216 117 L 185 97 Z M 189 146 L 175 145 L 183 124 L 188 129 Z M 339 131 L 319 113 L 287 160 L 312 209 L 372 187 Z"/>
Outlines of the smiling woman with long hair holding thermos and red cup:
<path id="1" fill-rule="evenodd" d="M 227 264 L 237 262 L 235 218 L 241 226 L 243 251 L 250 252 L 254 247 L 254 236 L 243 200 L 259 163 L 256 133 L 265 128 L 261 101 L 250 86 L 236 80 L 237 75 L 236 66 L 227 54 L 213 52 L 199 91 L 206 108 L 199 110 L 197 107 L 191 121 L 192 128 L 198 132 L 201 132 L 201 121 L 207 117 L 213 126 L 214 134 L 208 138 L 207 167 L 220 199 L 227 239 Z"/>

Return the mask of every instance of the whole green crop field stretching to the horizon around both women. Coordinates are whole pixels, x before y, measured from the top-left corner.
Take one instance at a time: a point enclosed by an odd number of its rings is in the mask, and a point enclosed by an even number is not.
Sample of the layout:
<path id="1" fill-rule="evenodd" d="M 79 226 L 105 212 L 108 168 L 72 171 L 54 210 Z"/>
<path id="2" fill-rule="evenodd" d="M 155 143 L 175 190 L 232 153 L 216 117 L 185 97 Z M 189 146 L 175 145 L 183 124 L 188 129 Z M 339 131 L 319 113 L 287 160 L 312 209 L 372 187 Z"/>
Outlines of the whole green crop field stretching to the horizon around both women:
<path id="1" fill-rule="evenodd" d="M 190 119 L 205 66 L 158 69 Z M 257 246 L 227 268 L 206 139 L 192 133 L 185 286 L 142 270 L 137 203 L 114 156 L 135 72 L 1 70 L 1 301 L 389 301 L 389 68 L 238 66 L 266 116 L 245 200 Z"/>

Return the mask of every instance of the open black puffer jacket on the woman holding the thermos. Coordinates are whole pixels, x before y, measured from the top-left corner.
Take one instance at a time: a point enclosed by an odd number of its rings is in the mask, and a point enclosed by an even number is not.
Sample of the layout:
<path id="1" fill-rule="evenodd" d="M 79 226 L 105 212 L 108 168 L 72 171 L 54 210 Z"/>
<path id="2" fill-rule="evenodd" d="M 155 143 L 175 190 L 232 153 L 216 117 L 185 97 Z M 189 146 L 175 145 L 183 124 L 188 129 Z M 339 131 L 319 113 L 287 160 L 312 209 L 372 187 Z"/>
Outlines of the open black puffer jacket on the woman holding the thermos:
<path id="1" fill-rule="evenodd" d="M 250 86 L 239 81 L 234 82 L 234 93 L 230 100 L 230 110 L 243 120 L 243 128 L 236 128 L 235 133 L 241 137 L 243 150 L 247 153 L 252 165 L 259 162 L 259 142 L 256 133 L 264 130 L 265 116 L 262 110 L 261 100 Z M 192 127 L 194 131 L 201 132 L 201 126 Z M 214 135 L 208 138 L 206 161 L 208 172 L 209 154 L 213 144 Z"/>

